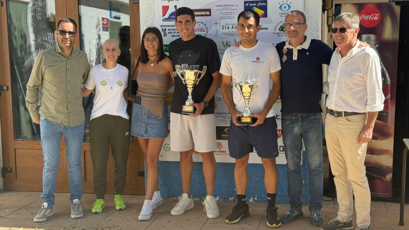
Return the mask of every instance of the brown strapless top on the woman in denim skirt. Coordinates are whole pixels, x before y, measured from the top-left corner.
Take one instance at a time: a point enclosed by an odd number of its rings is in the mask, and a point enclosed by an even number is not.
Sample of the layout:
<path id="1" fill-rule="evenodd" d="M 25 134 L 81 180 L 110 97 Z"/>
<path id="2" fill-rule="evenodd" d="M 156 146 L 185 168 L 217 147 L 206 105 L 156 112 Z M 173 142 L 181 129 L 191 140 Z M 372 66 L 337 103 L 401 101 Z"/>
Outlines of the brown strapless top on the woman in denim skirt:
<path id="1" fill-rule="evenodd" d="M 137 82 L 137 96 L 141 97 L 141 105 L 161 119 L 169 78 L 163 74 L 138 73 Z"/>

